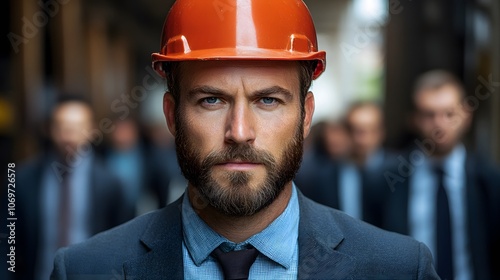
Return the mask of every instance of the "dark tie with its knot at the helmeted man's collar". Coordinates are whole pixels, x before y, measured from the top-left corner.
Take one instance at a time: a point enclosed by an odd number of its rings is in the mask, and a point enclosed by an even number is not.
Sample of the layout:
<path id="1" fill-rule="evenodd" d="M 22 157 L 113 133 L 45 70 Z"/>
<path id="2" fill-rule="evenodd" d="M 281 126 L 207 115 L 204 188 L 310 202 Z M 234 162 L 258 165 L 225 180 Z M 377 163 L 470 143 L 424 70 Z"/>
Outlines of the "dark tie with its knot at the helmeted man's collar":
<path id="1" fill-rule="evenodd" d="M 226 280 L 248 279 L 250 267 L 258 254 L 259 251 L 253 247 L 230 252 L 224 252 L 218 247 L 212 252 L 212 256 L 219 262 Z"/>

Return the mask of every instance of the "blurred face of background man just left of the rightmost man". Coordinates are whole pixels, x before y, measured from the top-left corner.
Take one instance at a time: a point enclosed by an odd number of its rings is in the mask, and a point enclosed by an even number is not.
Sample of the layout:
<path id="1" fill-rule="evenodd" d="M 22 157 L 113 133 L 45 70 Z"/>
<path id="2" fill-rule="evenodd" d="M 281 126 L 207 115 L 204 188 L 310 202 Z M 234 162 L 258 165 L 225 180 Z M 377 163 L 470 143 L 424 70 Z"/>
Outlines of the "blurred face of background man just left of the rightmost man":
<path id="1" fill-rule="evenodd" d="M 374 106 L 354 109 L 347 117 L 352 150 L 366 158 L 380 147 L 384 140 L 382 112 Z"/>

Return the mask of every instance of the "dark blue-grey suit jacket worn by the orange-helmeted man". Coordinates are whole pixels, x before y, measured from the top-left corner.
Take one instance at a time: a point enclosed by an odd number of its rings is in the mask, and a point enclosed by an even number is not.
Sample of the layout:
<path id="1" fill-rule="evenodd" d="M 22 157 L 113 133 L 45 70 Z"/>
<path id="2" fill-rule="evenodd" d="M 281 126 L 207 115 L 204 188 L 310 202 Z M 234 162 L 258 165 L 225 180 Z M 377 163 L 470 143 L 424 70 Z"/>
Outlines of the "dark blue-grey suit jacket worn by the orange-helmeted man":
<path id="1" fill-rule="evenodd" d="M 429 250 L 299 192 L 299 279 L 439 279 Z M 182 279 L 181 200 L 61 249 L 51 279 Z"/>

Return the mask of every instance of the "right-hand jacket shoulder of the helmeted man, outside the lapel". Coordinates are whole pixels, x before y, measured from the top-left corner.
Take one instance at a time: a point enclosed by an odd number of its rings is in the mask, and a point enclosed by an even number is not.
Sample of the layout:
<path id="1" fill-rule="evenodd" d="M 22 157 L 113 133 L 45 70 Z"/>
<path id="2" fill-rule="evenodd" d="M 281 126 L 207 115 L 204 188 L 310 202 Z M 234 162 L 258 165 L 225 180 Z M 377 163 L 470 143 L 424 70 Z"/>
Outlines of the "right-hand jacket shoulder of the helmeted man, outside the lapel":
<path id="1" fill-rule="evenodd" d="M 382 230 L 349 215 L 305 198 L 302 200 L 309 238 L 332 249 L 331 256 L 349 261 L 355 278 L 437 277 L 429 249 L 421 242 L 398 233 Z M 351 276 L 352 276 L 351 275 Z"/>

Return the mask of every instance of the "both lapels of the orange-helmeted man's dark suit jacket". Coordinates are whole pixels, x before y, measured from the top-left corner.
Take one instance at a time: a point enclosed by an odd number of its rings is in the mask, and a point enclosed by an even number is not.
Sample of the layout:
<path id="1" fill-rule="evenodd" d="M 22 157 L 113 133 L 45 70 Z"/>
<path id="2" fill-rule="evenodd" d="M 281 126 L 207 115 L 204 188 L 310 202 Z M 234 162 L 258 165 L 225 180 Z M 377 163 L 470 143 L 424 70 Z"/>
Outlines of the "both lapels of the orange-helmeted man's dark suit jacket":
<path id="1" fill-rule="evenodd" d="M 299 279 L 342 279 L 355 272 L 355 259 L 336 250 L 344 236 L 335 223 L 300 192 Z M 182 198 L 181 198 L 182 199 Z M 123 265 L 125 279 L 182 279 L 181 199 L 153 218 L 140 242 L 144 255 Z"/>

